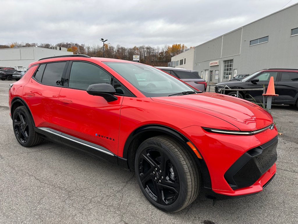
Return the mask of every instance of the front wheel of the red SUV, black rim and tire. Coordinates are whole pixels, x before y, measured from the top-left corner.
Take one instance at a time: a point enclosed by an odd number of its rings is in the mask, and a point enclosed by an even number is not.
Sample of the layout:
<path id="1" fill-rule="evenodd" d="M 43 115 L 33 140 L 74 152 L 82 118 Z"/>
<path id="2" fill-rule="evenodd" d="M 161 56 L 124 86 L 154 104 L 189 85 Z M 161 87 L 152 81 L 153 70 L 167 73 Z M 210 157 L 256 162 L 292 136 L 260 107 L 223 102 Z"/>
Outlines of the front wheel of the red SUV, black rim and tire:
<path id="1" fill-rule="evenodd" d="M 142 142 L 135 156 L 135 172 L 147 200 L 163 211 L 180 211 L 198 197 L 201 175 L 194 157 L 167 136 Z"/>

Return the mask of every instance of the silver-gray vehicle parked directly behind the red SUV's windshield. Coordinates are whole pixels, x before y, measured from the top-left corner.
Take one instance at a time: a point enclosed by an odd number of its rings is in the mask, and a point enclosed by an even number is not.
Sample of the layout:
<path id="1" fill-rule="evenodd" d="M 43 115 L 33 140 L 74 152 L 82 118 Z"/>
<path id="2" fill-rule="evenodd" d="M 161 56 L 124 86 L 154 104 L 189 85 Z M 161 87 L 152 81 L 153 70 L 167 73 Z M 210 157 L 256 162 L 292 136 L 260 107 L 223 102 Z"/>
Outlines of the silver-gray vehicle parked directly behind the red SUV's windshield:
<path id="1" fill-rule="evenodd" d="M 172 76 L 181 79 L 183 82 L 193 86 L 194 88 L 206 91 L 207 89 L 207 82 L 201 78 L 198 71 L 187 70 L 184 68 L 175 68 L 175 67 L 156 67 L 160 70 L 163 70 Z"/>

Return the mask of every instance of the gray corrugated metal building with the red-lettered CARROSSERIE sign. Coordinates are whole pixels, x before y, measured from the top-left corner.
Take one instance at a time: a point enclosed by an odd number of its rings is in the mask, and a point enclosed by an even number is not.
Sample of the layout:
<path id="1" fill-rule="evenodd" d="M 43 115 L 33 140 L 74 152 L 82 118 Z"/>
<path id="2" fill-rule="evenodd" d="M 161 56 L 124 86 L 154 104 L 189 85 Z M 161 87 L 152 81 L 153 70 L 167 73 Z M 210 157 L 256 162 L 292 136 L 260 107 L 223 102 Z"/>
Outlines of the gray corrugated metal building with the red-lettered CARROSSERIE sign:
<path id="1" fill-rule="evenodd" d="M 298 3 L 195 47 L 194 70 L 207 82 L 265 68 L 298 69 Z"/>

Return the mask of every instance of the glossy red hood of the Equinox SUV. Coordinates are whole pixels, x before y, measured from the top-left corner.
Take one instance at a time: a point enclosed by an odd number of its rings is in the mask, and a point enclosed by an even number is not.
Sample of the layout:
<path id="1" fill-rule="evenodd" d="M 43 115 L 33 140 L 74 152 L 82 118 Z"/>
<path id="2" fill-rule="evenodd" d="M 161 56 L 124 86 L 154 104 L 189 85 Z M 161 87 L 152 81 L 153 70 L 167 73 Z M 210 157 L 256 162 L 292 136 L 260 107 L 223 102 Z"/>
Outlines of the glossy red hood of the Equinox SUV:
<path id="1" fill-rule="evenodd" d="M 188 108 L 229 122 L 240 131 L 254 131 L 272 124 L 272 116 L 260 106 L 233 96 L 198 93 L 182 96 L 153 97 L 153 101 Z"/>

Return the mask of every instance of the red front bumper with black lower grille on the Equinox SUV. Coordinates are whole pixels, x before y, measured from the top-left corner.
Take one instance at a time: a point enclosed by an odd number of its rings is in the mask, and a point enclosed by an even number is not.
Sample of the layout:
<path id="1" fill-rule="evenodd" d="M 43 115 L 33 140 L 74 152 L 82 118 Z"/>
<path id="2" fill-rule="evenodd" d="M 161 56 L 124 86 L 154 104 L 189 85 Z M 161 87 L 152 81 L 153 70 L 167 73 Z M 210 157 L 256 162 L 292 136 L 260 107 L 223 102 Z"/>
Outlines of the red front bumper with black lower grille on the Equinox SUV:
<path id="1" fill-rule="evenodd" d="M 251 136 L 201 133 L 200 127 L 182 129 L 198 148 L 210 176 L 210 197 L 242 197 L 256 194 L 276 172 L 277 129 L 267 129 Z M 223 197 L 224 197 L 223 196 Z M 218 198 L 218 197 L 216 197 Z"/>

